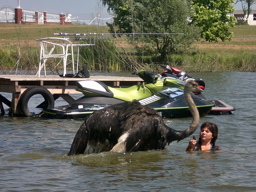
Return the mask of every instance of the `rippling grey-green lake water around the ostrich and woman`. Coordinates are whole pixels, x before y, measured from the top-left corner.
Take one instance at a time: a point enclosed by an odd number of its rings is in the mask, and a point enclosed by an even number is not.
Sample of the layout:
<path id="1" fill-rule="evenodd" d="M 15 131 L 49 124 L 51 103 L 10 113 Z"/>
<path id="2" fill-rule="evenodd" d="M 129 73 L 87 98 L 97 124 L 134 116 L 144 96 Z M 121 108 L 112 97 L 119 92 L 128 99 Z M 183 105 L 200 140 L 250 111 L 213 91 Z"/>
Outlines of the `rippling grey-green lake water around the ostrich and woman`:
<path id="1" fill-rule="evenodd" d="M 236 108 L 232 115 L 200 118 L 200 125 L 205 121 L 218 125 L 217 144 L 222 148 L 218 152 L 185 152 L 190 136 L 163 151 L 70 157 L 66 154 L 83 120 L 0 116 L 0 190 L 256 191 L 254 75 L 192 74 L 205 81 L 206 98 L 219 99 Z M 164 121 L 183 130 L 192 118 Z M 196 138 L 199 130 L 193 134 Z"/>

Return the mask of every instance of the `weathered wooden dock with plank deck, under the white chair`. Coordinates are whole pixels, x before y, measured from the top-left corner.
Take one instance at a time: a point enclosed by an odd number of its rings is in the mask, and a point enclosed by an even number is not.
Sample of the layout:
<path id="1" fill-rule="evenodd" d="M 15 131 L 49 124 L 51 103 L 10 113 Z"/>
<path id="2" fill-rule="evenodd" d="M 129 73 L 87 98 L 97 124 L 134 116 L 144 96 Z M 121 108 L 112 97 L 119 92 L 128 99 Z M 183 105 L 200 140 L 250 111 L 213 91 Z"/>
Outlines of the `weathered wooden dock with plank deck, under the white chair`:
<path id="1" fill-rule="evenodd" d="M 94 80 L 104 82 L 112 87 L 126 87 L 140 84 L 143 80 L 139 77 L 119 77 L 119 76 L 90 76 L 90 78 L 63 78 L 60 76 L 36 77 L 34 75 L 0 75 L 0 109 L 4 114 L 3 104 L 10 107 L 9 115 L 21 115 L 18 110 L 18 101 L 21 94 L 32 86 L 42 86 L 54 95 L 54 100 L 62 97 L 68 103 L 74 100 L 69 94 L 81 94 L 75 89 L 76 81 Z M 4 98 L 1 92 L 11 93 L 12 101 Z"/>

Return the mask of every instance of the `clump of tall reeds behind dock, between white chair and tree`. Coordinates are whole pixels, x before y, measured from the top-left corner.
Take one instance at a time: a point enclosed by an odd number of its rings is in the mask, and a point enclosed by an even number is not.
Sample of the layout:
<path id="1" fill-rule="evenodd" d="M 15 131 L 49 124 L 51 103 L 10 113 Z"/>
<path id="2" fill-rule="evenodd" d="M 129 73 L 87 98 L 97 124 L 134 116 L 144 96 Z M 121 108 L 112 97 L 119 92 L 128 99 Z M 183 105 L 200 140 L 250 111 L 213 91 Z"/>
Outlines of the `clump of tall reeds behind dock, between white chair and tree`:
<path id="1" fill-rule="evenodd" d="M 89 41 L 92 42 L 92 39 L 83 39 L 81 44 L 88 44 Z M 129 71 L 143 68 L 136 57 L 116 44 L 118 41 L 111 37 L 96 38 L 94 45 L 80 48 L 79 63 L 94 71 Z"/>

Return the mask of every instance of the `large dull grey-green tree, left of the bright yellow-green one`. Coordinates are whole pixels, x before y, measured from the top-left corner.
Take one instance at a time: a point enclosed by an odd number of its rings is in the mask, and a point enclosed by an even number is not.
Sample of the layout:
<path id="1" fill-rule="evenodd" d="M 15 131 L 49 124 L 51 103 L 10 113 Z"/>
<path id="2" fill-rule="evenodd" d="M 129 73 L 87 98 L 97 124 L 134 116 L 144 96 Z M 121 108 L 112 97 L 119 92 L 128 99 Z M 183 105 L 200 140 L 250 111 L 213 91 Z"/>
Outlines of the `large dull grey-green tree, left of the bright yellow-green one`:
<path id="1" fill-rule="evenodd" d="M 187 0 L 102 0 L 116 16 L 110 32 L 184 33 L 184 35 L 140 36 L 146 48 L 156 48 L 157 60 L 167 53 L 181 52 L 199 37 L 199 28 L 192 24 L 192 4 Z M 115 29 L 118 30 L 115 30 Z M 134 38 L 133 38 L 134 40 Z M 145 47 L 144 47 L 145 48 Z"/>

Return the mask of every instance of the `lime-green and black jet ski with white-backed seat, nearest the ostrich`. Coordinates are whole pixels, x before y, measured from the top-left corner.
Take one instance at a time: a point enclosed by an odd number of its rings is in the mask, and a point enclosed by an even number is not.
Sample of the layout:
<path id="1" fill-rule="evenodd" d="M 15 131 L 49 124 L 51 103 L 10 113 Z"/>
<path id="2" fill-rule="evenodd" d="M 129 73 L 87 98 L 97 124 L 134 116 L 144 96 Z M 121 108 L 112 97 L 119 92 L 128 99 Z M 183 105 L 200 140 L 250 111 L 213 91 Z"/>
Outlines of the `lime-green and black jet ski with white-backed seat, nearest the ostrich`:
<path id="1" fill-rule="evenodd" d="M 138 100 L 140 104 L 160 112 L 162 117 L 190 117 L 190 110 L 184 99 L 184 82 L 171 74 L 154 75 L 140 70 L 136 74 L 144 80 L 143 84 L 128 88 L 113 88 L 100 81 L 82 80 L 76 82 L 76 90 L 84 94 L 66 106 L 42 110 L 48 118 L 86 118 L 95 110 L 112 104 Z M 214 104 L 191 93 L 200 116 L 205 116 Z"/>

